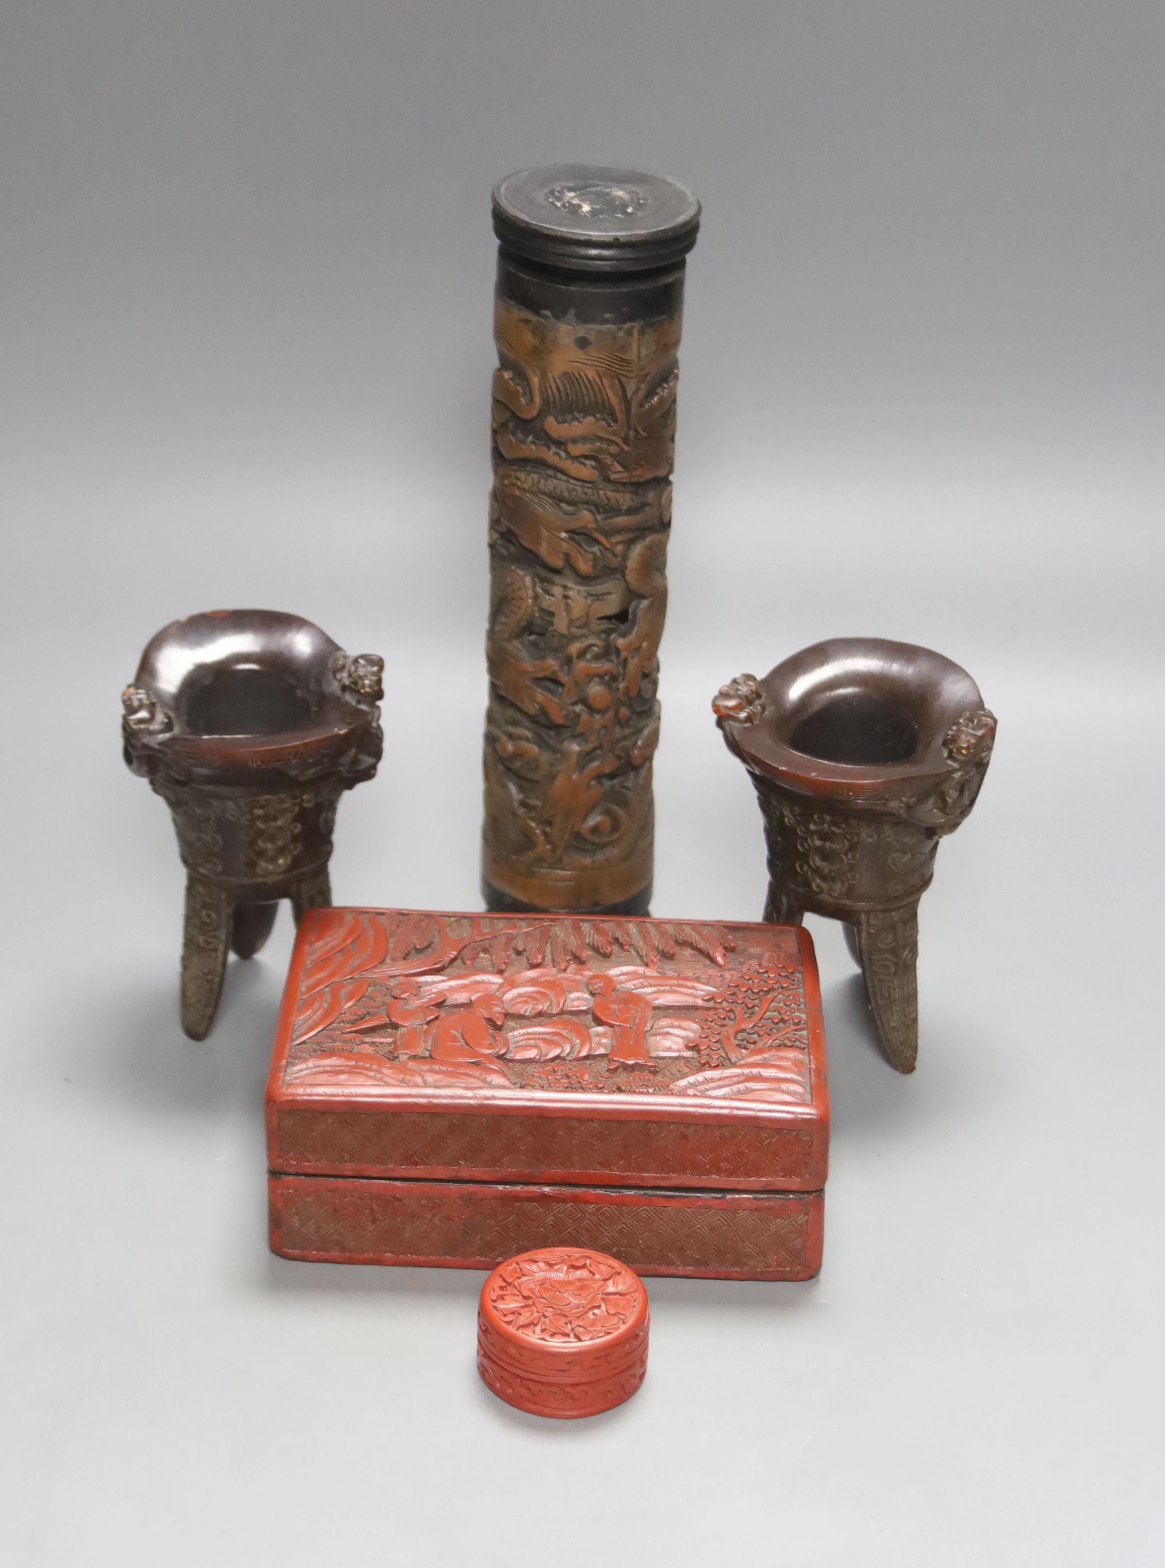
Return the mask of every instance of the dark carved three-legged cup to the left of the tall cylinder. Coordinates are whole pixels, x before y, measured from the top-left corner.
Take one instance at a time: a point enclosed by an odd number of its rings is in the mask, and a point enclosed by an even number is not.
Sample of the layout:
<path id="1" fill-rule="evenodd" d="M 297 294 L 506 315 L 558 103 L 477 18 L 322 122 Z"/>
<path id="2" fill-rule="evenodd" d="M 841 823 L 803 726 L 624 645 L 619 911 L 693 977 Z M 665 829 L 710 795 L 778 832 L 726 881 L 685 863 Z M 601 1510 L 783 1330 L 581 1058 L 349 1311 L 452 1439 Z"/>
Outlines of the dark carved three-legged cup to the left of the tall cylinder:
<path id="1" fill-rule="evenodd" d="M 171 809 L 186 870 L 182 1027 L 210 1033 L 227 955 L 251 958 L 280 898 L 332 902 L 335 809 L 381 760 L 384 662 L 276 610 L 172 621 L 122 693 L 128 767 Z"/>

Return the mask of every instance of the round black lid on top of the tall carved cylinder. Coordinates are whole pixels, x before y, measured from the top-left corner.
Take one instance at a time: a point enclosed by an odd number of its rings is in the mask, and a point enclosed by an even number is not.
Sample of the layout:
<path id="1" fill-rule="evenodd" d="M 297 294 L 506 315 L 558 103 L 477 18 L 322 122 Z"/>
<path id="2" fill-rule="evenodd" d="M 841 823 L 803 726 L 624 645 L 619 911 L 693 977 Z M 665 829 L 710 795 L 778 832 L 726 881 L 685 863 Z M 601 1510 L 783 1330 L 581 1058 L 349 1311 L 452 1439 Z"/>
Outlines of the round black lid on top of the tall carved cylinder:
<path id="1" fill-rule="evenodd" d="M 543 267 L 640 273 L 695 245 L 700 202 L 659 174 L 554 163 L 507 174 L 493 190 L 501 243 Z"/>

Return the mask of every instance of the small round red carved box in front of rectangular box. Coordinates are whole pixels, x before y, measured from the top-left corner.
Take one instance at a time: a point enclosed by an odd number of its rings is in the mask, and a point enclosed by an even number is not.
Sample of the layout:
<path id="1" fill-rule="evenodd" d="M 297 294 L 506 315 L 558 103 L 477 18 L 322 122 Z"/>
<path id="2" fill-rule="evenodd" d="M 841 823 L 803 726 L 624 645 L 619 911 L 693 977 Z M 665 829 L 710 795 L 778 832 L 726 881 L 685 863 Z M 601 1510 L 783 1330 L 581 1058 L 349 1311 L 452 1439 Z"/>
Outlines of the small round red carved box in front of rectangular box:
<path id="1" fill-rule="evenodd" d="M 481 1290 L 478 1370 L 532 1416 L 597 1416 L 647 1372 L 647 1290 L 617 1258 L 543 1247 L 498 1264 Z"/>

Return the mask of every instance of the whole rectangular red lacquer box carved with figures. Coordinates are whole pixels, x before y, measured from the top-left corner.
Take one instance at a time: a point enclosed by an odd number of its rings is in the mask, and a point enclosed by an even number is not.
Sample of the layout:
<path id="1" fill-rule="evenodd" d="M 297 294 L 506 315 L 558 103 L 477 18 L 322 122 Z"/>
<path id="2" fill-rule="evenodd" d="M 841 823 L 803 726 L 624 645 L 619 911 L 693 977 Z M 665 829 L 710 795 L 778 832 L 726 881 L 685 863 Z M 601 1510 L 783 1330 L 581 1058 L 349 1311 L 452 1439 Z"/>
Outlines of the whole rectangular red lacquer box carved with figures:
<path id="1" fill-rule="evenodd" d="M 821 1267 L 825 1044 L 800 928 L 312 909 L 266 1118 L 283 1258 Z"/>

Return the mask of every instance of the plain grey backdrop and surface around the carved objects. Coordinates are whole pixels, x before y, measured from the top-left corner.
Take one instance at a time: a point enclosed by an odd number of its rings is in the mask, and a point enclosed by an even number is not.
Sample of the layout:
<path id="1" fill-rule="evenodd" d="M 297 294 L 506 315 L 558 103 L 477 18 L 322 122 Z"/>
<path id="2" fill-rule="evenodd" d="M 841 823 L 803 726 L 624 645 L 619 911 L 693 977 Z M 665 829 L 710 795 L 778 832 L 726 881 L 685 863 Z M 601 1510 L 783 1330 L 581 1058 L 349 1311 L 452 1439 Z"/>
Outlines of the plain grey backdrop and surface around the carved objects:
<path id="1" fill-rule="evenodd" d="M 1160 0 L 9 0 L 6 1562 L 1162 1562 L 1163 64 Z M 1001 735 L 913 1079 L 813 922 L 821 1278 L 650 1283 L 642 1394 L 554 1425 L 481 1275 L 268 1254 L 290 917 L 183 1040 L 117 693 L 200 608 L 382 652 L 337 897 L 474 903 L 489 190 L 570 158 L 705 201 L 655 911 L 759 914 L 728 676 L 922 641 Z"/>

